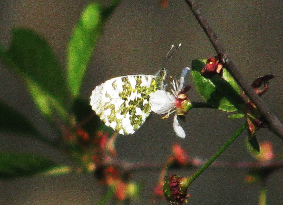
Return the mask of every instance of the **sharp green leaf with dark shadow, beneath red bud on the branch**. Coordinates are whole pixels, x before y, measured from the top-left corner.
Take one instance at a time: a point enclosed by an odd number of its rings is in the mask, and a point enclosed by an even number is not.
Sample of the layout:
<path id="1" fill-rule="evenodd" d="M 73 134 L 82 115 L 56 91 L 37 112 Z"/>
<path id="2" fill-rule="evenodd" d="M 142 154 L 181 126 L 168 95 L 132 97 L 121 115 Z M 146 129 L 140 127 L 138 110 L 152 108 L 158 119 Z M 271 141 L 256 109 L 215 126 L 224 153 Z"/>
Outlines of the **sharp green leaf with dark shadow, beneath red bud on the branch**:
<path id="1" fill-rule="evenodd" d="M 241 98 L 241 90 L 233 77 L 226 69 L 223 69 L 223 78 L 218 75 L 211 79 L 201 76 L 200 72 L 206 63 L 206 59 L 192 61 L 192 76 L 196 89 L 201 97 L 219 110 L 243 112 L 245 102 Z"/>

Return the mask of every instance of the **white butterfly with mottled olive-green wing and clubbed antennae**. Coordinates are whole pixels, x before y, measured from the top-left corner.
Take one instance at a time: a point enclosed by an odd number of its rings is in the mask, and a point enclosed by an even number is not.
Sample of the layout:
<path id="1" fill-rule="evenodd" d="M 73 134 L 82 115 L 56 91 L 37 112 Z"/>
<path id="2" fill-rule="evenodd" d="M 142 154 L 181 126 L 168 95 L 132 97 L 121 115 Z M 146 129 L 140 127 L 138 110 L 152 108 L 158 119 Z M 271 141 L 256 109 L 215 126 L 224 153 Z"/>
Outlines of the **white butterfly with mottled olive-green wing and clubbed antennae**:
<path id="1" fill-rule="evenodd" d="M 180 46 L 181 43 L 173 52 Z M 151 113 L 150 94 L 164 89 L 164 64 L 173 54 L 170 51 L 155 75 L 125 75 L 96 86 L 90 96 L 90 105 L 105 125 L 123 135 L 134 134 L 140 128 Z"/>

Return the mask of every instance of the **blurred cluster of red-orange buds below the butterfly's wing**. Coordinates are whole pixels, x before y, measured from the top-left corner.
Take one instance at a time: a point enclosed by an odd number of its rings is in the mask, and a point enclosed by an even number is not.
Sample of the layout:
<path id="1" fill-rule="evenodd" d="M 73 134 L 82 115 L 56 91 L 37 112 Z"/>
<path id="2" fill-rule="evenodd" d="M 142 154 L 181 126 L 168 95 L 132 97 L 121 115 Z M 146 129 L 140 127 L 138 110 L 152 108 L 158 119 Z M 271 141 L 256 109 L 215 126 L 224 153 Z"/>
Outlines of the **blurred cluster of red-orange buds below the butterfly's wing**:
<path id="1" fill-rule="evenodd" d="M 130 175 L 126 176 L 119 166 L 111 164 L 117 157 L 114 147 L 117 133 L 110 134 L 107 130 L 86 131 L 88 129 L 84 128 L 90 119 L 88 117 L 87 120 L 74 123 L 72 128 L 66 129 L 65 143 L 83 164 L 78 171 L 94 172 L 101 184 L 114 189 L 117 200 L 135 196 L 138 186 L 128 182 Z"/>

